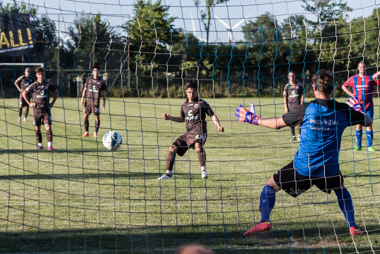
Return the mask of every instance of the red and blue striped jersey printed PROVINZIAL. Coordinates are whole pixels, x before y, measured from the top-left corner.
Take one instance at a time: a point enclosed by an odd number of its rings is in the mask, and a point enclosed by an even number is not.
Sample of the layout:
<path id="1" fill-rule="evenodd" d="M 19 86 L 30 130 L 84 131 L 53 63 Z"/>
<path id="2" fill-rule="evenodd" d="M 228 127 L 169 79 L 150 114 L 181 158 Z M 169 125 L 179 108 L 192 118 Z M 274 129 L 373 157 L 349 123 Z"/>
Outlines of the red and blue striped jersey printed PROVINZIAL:
<path id="1" fill-rule="evenodd" d="M 358 97 L 359 101 L 363 101 L 366 109 L 374 106 L 372 93 L 374 92 L 375 85 L 378 85 L 378 81 L 374 80 L 372 75 L 367 75 L 363 78 L 359 74 L 351 76 L 343 85 L 352 88 L 354 96 Z"/>

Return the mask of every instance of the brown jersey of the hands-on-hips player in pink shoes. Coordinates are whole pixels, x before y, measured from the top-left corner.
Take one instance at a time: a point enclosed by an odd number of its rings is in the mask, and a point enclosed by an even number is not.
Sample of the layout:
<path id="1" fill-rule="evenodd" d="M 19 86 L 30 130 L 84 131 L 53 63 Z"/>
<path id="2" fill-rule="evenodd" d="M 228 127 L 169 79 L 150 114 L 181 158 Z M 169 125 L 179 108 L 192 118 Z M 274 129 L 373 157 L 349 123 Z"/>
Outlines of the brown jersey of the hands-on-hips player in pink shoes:
<path id="1" fill-rule="evenodd" d="M 33 102 L 35 102 L 35 109 L 47 110 L 50 100 L 50 92 L 57 90 L 53 83 L 44 81 L 42 84 L 35 81 L 32 85 L 25 88 L 27 93 L 32 92 Z"/>

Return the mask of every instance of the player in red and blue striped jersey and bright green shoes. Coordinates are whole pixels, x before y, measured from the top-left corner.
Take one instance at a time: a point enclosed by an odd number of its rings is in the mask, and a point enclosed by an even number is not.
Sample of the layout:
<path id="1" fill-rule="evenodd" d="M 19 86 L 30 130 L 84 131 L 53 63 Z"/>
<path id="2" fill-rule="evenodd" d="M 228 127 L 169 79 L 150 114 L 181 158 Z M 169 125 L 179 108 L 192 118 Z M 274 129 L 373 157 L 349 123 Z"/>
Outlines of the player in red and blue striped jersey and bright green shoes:
<path id="1" fill-rule="evenodd" d="M 359 101 L 363 101 L 364 107 L 366 109 L 366 114 L 371 119 L 371 122 L 374 120 L 374 102 L 372 100 L 372 96 L 375 95 L 375 91 L 377 91 L 377 77 L 380 72 L 375 73 L 374 75 L 367 75 L 367 63 L 364 61 L 360 61 L 358 63 L 358 71 L 359 73 L 348 78 L 346 82 L 342 85 L 343 91 L 345 91 L 348 96 L 356 96 Z M 376 89 L 375 89 L 376 87 Z M 350 91 L 350 88 L 352 91 Z M 366 128 L 366 136 L 367 136 L 367 149 L 368 151 L 375 151 L 372 147 L 373 141 L 373 130 L 372 126 Z M 356 125 L 356 147 L 355 151 L 361 150 L 361 138 L 363 136 L 363 126 Z"/>

